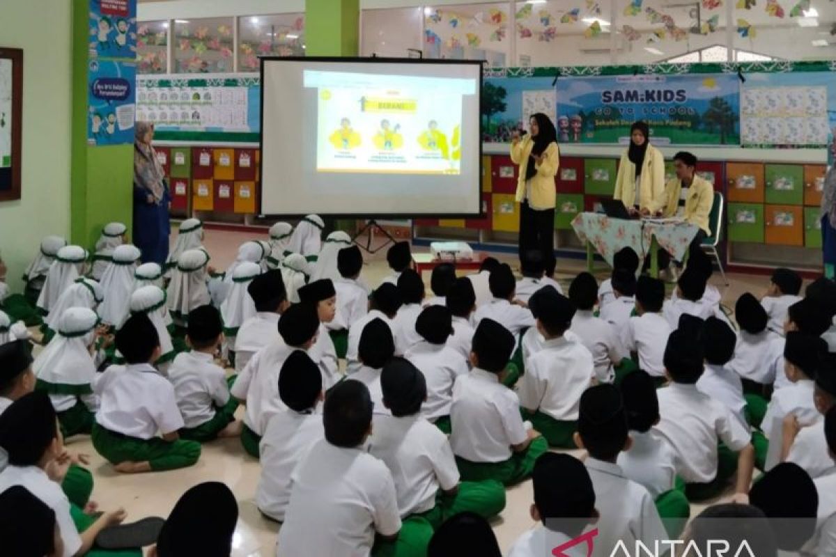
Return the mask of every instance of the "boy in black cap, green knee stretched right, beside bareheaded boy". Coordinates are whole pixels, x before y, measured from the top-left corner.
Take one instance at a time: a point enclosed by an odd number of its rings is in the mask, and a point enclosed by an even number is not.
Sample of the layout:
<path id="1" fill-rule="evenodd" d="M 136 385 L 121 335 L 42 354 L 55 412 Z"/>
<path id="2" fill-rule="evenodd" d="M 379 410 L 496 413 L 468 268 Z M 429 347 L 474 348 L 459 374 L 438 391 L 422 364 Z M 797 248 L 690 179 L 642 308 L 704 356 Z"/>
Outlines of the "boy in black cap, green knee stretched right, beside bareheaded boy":
<path id="1" fill-rule="evenodd" d="M 395 480 L 402 520 L 417 515 L 433 529 L 454 514 L 471 511 L 489 519 L 505 508 L 505 487 L 496 480 L 459 482 L 447 436 L 425 418 L 424 375 L 404 358 L 393 358 L 380 376 L 390 415 L 375 415 L 369 453 Z M 426 543 L 429 543 L 426 539 Z"/>

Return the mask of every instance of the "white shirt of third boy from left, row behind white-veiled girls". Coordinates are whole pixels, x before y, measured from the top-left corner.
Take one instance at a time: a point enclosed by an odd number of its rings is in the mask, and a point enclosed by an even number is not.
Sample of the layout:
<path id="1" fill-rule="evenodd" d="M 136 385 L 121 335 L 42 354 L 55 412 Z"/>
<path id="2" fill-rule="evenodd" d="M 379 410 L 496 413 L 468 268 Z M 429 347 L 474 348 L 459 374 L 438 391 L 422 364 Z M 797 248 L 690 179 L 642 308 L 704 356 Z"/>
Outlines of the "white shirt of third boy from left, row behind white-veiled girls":
<path id="1" fill-rule="evenodd" d="M 252 357 L 232 385 L 232 396 L 246 401 L 244 424 L 257 435 L 263 435 L 270 418 L 287 408 L 278 396 L 278 374 L 295 350 L 279 337 Z"/>

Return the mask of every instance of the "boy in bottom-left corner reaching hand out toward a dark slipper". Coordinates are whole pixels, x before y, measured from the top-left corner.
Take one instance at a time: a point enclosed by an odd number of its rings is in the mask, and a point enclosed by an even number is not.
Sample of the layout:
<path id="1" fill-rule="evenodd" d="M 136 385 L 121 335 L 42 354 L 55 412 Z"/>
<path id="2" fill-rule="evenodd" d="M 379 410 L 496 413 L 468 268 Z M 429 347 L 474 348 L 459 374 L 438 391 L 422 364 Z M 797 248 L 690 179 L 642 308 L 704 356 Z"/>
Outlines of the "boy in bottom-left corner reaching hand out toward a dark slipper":
<path id="1" fill-rule="evenodd" d="M 63 557 L 87 554 L 102 529 L 125 519 L 124 509 L 102 513 L 97 519 L 88 517 L 82 509 L 70 504 L 59 484 L 49 477 L 48 473 L 64 452 L 64 439 L 52 403 L 43 392 L 30 392 L 18 398 L 0 416 L 0 448 L 8 459 L 0 471 L 0 493 L 20 485 L 53 510 L 64 542 Z M 79 532 L 77 522 L 87 528 Z"/>

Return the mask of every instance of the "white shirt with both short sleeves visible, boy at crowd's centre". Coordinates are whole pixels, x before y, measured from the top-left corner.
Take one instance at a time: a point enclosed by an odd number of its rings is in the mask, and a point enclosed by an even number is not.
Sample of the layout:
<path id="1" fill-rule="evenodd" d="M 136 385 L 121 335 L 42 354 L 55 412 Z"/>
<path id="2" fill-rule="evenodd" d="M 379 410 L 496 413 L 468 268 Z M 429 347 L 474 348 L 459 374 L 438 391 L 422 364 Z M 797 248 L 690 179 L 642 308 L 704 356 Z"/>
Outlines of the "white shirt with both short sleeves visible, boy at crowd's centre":
<path id="1" fill-rule="evenodd" d="M 431 422 L 449 416 L 453 383 L 469 371 L 465 358 L 452 347 L 426 341 L 415 344 L 404 357 L 421 370 L 426 380 L 426 401 L 421 405 L 421 416 Z"/>

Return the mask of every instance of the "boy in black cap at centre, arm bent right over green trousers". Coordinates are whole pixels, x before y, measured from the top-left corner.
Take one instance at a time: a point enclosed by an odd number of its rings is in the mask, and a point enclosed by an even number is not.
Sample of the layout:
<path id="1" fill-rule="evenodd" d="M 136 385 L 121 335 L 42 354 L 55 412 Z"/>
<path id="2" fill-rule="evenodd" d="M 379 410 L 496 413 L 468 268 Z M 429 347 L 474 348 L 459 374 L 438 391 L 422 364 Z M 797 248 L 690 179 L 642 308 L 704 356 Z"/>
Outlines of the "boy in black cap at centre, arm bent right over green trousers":
<path id="1" fill-rule="evenodd" d="M 473 335 L 473 369 L 453 386 L 450 444 L 461 479 L 518 484 L 548 450 L 546 439 L 523 424 L 517 393 L 502 385 L 513 348 L 511 332 L 482 319 Z"/>

